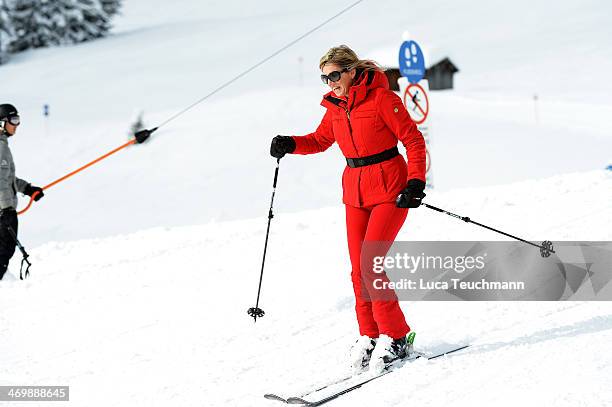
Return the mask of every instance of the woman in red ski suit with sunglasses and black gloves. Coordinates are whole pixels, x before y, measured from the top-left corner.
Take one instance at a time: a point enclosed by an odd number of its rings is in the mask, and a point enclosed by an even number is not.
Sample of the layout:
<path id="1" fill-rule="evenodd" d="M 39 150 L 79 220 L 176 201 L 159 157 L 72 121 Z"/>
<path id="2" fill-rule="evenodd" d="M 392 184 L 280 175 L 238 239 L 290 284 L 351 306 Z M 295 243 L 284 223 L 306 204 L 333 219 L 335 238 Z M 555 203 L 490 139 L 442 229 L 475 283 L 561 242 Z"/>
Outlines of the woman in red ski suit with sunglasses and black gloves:
<path id="1" fill-rule="evenodd" d="M 382 255 L 386 255 L 407 208 L 420 205 L 425 188 L 425 141 L 401 99 L 388 89 L 387 78 L 376 63 L 358 59 L 343 45 L 330 49 L 321 58 L 320 68 L 321 79 L 331 88 L 321 102 L 327 109 L 321 124 L 305 136 L 275 137 L 270 152 L 277 158 L 285 153 L 314 154 L 338 143 L 347 158 L 342 202 L 359 332 L 371 338 L 370 348 L 381 335 L 405 347 L 410 328 L 395 295 L 387 301 L 363 295 L 362 245 L 385 241 Z M 406 148 L 408 164 L 397 151 L 398 140 Z"/>

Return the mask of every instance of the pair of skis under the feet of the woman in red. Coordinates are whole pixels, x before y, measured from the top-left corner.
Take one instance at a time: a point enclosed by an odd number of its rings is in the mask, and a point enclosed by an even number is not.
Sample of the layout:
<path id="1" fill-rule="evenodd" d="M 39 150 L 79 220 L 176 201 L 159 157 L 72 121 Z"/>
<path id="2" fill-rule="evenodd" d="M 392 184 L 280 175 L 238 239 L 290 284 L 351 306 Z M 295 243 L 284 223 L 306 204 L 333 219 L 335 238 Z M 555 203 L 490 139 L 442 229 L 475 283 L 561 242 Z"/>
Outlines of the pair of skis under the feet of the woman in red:
<path id="1" fill-rule="evenodd" d="M 458 346 L 458 347 L 446 350 L 444 352 L 440 352 L 440 353 L 437 353 L 437 354 L 434 354 L 434 355 L 429 355 L 429 356 L 424 354 L 424 353 L 421 353 L 421 352 L 413 352 L 410 356 L 408 356 L 408 357 L 406 357 L 404 359 L 397 360 L 394 363 L 392 363 L 389 366 L 387 366 L 382 373 L 380 373 L 380 374 L 378 374 L 376 376 L 370 377 L 370 378 L 368 378 L 366 380 L 363 380 L 363 381 L 361 381 L 361 382 L 359 382 L 359 383 L 357 383 L 357 384 L 355 384 L 353 386 L 347 387 L 346 389 L 338 391 L 338 392 L 336 392 L 334 394 L 331 394 L 331 395 L 329 395 L 329 396 L 327 396 L 327 397 L 325 397 L 325 398 L 323 398 L 321 400 L 317 400 L 317 401 L 308 401 L 308 400 L 305 400 L 304 397 L 307 397 L 310 394 L 317 393 L 317 392 L 319 392 L 321 390 L 324 390 L 324 389 L 326 389 L 328 387 L 331 387 L 331 386 L 334 386 L 336 384 L 345 382 L 345 381 L 347 381 L 347 380 L 349 380 L 349 379 L 351 379 L 351 378 L 353 378 L 355 376 L 344 377 L 344 378 L 342 378 L 340 380 L 337 380 L 337 381 L 334 381 L 332 383 L 329 383 L 329 384 L 327 384 L 325 386 L 322 386 L 322 387 L 320 387 L 318 389 L 315 389 L 315 390 L 313 390 L 313 391 L 311 391 L 311 392 L 309 392 L 309 393 L 307 393 L 307 394 L 305 394 L 303 396 L 300 396 L 300 397 L 289 397 L 287 399 L 284 399 L 284 398 L 282 398 L 280 396 L 277 396 L 276 394 L 271 394 L 271 393 L 265 394 L 264 397 L 266 399 L 268 399 L 268 400 L 276 400 L 276 401 L 280 401 L 280 402 L 282 402 L 284 404 L 293 404 L 293 405 L 297 404 L 297 405 L 303 405 L 303 406 L 320 406 L 320 405 L 323 405 L 323 404 L 325 404 L 325 403 L 327 403 L 329 401 L 335 400 L 336 398 L 338 398 L 338 397 L 340 397 L 340 396 L 342 396 L 342 395 L 344 395 L 346 393 L 349 393 L 349 392 L 351 392 L 353 390 L 357 390 L 358 388 L 362 387 L 363 385 L 365 385 L 365 384 L 367 384 L 367 383 L 369 383 L 371 381 L 374 381 L 376 379 L 380 379 L 381 377 L 383 377 L 383 376 L 385 376 L 385 375 L 387 375 L 387 374 L 389 374 L 389 373 L 391 373 L 391 372 L 401 368 L 407 362 L 412 362 L 412 361 L 417 360 L 419 358 L 426 358 L 427 360 L 433 360 L 433 359 L 436 359 L 436 358 L 439 358 L 439 357 L 442 357 L 442 356 L 445 356 L 445 355 L 448 355 L 448 354 L 451 354 L 451 353 L 454 353 L 454 352 L 459 352 L 460 350 L 463 350 L 463 349 L 465 349 L 465 348 L 467 348 L 469 346 L 470 345 L 462 345 L 462 346 Z"/>

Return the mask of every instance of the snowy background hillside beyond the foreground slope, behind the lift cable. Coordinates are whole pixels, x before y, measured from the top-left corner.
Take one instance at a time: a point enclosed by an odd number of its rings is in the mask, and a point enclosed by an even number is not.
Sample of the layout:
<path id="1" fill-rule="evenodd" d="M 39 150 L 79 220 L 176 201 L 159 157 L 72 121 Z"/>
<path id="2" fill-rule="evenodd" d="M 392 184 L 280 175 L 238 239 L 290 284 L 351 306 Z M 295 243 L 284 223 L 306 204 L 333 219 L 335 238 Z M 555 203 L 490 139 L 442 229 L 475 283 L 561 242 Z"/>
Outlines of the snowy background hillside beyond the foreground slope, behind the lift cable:
<path id="1" fill-rule="evenodd" d="M 1 99 L 24 119 L 11 140 L 18 174 L 50 183 L 122 144 L 135 112 L 159 124 L 349 4 L 127 0 L 111 37 L 15 56 L 0 78 Z M 598 1 L 364 1 L 149 145 L 50 189 L 22 217 L 24 243 L 265 214 L 270 139 L 310 132 L 323 114 L 321 54 L 347 43 L 386 63 L 404 31 L 461 70 L 456 90 L 431 95 L 438 189 L 604 168 L 612 85 L 600 78 L 612 71 L 611 11 Z M 342 168 L 336 148 L 286 160 L 279 199 L 291 211 L 336 205 Z"/>

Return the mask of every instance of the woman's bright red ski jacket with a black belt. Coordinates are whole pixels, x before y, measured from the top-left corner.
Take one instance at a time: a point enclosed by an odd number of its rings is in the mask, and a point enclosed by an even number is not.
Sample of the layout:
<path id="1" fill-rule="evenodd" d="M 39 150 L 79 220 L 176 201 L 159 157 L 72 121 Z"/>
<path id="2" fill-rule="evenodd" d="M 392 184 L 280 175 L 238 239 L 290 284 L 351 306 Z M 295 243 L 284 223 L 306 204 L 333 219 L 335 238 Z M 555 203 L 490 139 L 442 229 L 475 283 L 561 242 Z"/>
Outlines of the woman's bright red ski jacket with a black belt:
<path id="1" fill-rule="evenodd" d="M 321 105 L 327 112 L 317 130 L 293 136 L 294 154 L 320 153 L 337 142 L 345 157 L 367 157 L 393 148 L 400 140 L 408 155 L 408 165 L 402 155 L 364 167 L 347 165 L 342 174 L 344 204 L 365 207 L 395 202 L 409 179 L 425 181 L 425 140 L 399 96 L 389 90 L 384 73 L 361 73 L 348 99 L 331 91 Z"/>

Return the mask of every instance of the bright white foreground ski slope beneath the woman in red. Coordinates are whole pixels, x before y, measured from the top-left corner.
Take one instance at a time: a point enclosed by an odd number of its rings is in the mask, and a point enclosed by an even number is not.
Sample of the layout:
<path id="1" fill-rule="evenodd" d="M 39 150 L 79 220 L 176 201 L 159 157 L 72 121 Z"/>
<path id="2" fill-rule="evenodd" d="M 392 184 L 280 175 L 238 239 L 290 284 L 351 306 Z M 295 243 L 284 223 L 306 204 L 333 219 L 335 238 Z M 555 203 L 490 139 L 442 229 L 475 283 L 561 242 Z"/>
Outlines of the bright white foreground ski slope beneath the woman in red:
<path id="1" fill-rule="evenodd" d="M 602 205 L 610 191 L 612 178 L 594 171 L 427 199 L 536 241 L 610 240 L 612 215 Z M 13 264 L 11 280 L 0 284 L 0 383 L 70 385 L 71 406 L 271 407 L 264 393 L 301 394 L 342 375 L 357 334 L 343 208 L 277 208 L 262 290 L 267 315 L 253 324 L 246 309 L 255 301 L 266 222 L 158 228 L 32 250 L 32 277 L 16 280 Z M 426 208 L 411 210 L 400 232 L 403 240 L 497 238 Z M 605 302 L 402 307 L 419 349 L 472 347 L 417 361 L 330 405 L 612 402 Z"/>

